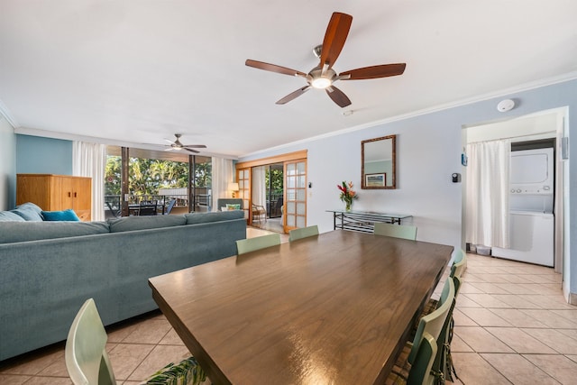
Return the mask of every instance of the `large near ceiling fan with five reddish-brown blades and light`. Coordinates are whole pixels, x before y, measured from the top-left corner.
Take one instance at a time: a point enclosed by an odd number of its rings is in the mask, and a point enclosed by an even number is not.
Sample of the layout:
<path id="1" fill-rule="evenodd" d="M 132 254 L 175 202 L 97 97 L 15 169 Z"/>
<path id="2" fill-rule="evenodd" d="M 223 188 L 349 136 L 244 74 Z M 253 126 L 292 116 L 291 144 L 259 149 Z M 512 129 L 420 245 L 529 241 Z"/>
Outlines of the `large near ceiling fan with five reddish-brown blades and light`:
<path id="1" fill-rule="evenodd" d="M 307 80 L 307 86 L 281 98 L 277 105 L 284 105 L 292 99 L 303 95 L 310 88 L 325 89 L 326 94 L 340 107 L 351 105 L 351 100 L 344 95 L 343 91 L 334 87 L 337 80 L 360 80 L 369 78 L 387 78 L 402 75 L 405 71 L 406 63 L 382 64 L 379 66 L 363 67 L 362 69 L 351 69 L 336 74 L 333 69 L 334 61 L 343 50 L 344 41 L 351 29 L 353 16 L 334 12 L 331 21 L 328 23 L 325 32 L 325 40 L 322 45 L 316 46 L 313 50 L 317 58 L 320 59 L 318 66 L 311 69 L 307 74 L 296 69 L 280 67 L 276 64 L 269 64 L 257 60 L 246 60 L 245 65 L 255 69 L 264 69 L 279 74 L 297 76 Z"/>

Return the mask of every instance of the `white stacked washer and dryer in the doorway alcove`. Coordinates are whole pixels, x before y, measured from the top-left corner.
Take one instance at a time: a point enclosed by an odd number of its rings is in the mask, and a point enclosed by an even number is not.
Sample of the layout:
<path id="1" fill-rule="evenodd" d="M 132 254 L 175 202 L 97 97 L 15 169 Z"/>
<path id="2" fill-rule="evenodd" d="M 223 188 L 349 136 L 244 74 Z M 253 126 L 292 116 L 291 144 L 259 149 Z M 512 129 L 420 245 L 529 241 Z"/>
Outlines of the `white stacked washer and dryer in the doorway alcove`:
<path id="1" fill-rule="evenodd" d="M 509 249 L 492 247 L 493 256 L 554 265 L 553 148 L 511 151 Z"/>

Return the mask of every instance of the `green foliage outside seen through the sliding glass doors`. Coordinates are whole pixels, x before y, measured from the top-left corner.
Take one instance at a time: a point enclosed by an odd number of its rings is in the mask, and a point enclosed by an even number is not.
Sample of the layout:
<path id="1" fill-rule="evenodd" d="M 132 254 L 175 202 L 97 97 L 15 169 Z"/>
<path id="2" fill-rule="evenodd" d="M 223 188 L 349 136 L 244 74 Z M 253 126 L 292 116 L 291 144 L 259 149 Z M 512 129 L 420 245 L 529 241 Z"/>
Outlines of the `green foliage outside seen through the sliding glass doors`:
<path id="1" fill-rule="evenodd" d="M 105 168 L 105 195 L 120 195 L 122 186 L 121 157 L 109 156 Z M 131 195 L 158 195 L 159 188 L 186 188 L 188 163 L 170 160 L 131 158 L 128 162 L 128 191 Z M 194 183 L 210 188 L 211 162 L 196 164 Z"/>

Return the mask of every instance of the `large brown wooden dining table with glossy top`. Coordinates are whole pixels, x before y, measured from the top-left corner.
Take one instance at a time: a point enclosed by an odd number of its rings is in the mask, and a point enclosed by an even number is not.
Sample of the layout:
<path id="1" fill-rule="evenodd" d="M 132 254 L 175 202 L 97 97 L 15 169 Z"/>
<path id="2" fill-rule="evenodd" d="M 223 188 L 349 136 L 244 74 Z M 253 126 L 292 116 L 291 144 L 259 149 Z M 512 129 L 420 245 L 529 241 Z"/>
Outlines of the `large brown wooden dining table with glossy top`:
<path id="1" fill-rule="evenodd" d="M 380 384 L 452 252 L 337 230 L 149 284 L 213 384 Z"/>

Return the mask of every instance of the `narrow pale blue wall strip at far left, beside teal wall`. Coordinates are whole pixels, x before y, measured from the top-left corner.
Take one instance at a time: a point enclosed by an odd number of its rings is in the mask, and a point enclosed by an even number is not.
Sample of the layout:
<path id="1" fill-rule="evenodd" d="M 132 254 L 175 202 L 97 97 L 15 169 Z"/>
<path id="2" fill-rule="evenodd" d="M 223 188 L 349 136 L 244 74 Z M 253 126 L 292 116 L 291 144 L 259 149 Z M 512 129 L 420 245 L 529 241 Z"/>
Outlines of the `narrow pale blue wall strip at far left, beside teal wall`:
<path id="1" fill-rule="evenodd" d="M 16 135 L 0 115 L 0 210 L 14 208 L 16 190 Z"/>

